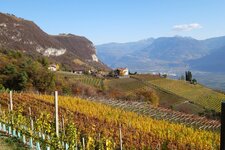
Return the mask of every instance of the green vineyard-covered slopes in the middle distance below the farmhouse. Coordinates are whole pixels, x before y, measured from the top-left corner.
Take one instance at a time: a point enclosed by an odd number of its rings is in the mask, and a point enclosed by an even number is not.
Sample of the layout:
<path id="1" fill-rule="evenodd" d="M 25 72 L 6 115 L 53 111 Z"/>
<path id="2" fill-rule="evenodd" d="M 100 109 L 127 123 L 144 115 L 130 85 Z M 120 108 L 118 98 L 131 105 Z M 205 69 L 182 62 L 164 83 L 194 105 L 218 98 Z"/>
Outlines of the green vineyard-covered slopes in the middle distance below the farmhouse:
<path id="1" fill-rule="evenodd" d="M 193 114 L 203 112 L 204 107 L 220 111 L 220 102 L 225 99 L 224 94 L 202 85 L 191 85 L 184 81 L 164 79 L 152 75 L 135 75 L 132 78 L 103 80 L 87 75 L 59 72 L 58 77 L 67 77 L 70 83 L 81 81 L 99 89 L 119 90 L 126 95 L 150 87 L 160 97 L 161 106 Z"/>

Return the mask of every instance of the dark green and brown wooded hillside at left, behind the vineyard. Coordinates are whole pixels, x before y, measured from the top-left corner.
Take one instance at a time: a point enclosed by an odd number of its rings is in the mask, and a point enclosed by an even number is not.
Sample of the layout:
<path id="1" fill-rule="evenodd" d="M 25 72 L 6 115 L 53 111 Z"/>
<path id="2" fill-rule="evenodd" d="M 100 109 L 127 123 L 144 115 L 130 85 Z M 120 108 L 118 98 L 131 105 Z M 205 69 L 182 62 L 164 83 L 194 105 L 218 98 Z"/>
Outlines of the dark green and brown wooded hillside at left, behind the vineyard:
<path id="1" fill-rule="evenodd" d="M 21 51 L 0 49 L 0 91 L 51 91 L 55 75 L 45 57 L 32 58 Z"/>

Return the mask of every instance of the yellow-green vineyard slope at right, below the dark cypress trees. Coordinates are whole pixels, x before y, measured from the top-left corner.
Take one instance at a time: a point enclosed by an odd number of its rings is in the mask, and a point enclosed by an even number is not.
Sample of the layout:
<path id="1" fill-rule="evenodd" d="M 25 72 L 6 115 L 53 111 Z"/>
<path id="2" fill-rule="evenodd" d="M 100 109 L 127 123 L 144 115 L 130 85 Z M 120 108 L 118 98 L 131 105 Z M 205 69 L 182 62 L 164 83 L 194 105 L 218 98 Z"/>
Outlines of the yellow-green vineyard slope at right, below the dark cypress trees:
<path id="1" fill-rule="evenodd" d="M 221 110 L 221 101 L 225 99 L 225 95 L 222 93 L 215 92 L 201 85 L 185 83 L 184 81 L 157 79 L 149 81 L 149 83 L 187 98 L 205 108 L 213 109 L 218 112 Z"/>

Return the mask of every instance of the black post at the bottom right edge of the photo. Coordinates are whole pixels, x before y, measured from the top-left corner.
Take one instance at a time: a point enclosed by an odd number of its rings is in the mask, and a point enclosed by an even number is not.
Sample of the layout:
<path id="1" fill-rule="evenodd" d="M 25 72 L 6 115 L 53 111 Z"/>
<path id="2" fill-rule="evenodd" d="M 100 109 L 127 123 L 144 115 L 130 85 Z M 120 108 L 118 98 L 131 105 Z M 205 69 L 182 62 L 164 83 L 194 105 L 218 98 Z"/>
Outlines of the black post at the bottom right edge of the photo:
<path id="1" fill-rule="evenodd" d="M 220 150 L 225 150 L 225 102 L 221 104 Z"/>

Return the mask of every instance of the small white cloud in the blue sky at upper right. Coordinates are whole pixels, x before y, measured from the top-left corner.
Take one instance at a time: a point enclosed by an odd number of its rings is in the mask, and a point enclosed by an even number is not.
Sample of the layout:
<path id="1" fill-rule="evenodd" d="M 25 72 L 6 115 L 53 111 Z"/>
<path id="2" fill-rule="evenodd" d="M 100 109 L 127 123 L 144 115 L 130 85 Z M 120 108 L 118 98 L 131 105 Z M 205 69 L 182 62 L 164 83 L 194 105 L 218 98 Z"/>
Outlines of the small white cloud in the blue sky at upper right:
<path id="1" fill-rule="evenodd" d="M 180 24 L 180 25 L 173 26 L 174 31 L 191 31 L 194 29 L 201 29 L 201 28 L 202 26 L 198 23 Z"/>

